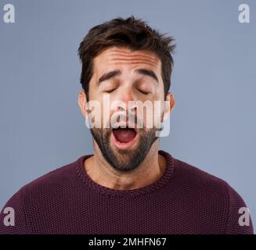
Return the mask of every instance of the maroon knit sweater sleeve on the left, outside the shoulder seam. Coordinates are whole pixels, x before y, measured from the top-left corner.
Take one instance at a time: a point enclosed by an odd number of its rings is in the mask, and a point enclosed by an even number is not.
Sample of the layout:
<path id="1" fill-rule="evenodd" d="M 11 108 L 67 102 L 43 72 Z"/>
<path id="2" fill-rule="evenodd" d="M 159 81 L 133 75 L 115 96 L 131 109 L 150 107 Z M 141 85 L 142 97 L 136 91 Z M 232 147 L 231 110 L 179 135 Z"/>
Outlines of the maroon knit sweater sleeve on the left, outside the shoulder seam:
<path id="1" fill-rule="evenodd" d="M 0 214 L 0 234 L 28 234 L 23 188 L 5 204 Z"/>

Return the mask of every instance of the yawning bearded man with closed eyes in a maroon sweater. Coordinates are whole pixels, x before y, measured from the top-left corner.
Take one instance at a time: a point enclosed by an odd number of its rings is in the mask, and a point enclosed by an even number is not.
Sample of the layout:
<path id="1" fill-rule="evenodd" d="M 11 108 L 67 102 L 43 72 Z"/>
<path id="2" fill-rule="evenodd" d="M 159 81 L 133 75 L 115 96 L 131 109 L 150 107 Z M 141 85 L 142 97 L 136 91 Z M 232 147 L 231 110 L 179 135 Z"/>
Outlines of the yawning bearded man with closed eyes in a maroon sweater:
<path id="1" fill-rule="evenodd" d="M 22 187 L 2 210 L 0 233 L 253 234 L 229 184 L 159 151 L 159 125 L 175 106 L 174 48 L 172 37 L 133 16 L 89 30 L 78 50 L 78 104 L 94 154 Z M 164 105 L 142 112 L 147 101 Z M 149 116 L 158 117 L 153 126 Z M 15 224 L 6 226 L 10 208 Z"/>

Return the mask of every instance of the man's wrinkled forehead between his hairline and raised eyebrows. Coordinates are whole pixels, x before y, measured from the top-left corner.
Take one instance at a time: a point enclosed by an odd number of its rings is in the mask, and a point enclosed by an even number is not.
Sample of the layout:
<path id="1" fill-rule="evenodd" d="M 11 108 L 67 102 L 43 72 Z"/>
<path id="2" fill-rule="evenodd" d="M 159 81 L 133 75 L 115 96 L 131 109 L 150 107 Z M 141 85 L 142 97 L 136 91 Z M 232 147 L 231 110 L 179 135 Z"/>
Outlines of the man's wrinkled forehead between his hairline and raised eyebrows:
<path id="1" fill-rule="evenodd" d="M 106 48 L 94 59 L 95 70 L 102 71 L 113 66 L 128 66 L 131 69 L 143 66 L 152 70 L 160 70 L 160 59 L 153 52 L 131 51 L 129 48 L 122 47 Z"/>

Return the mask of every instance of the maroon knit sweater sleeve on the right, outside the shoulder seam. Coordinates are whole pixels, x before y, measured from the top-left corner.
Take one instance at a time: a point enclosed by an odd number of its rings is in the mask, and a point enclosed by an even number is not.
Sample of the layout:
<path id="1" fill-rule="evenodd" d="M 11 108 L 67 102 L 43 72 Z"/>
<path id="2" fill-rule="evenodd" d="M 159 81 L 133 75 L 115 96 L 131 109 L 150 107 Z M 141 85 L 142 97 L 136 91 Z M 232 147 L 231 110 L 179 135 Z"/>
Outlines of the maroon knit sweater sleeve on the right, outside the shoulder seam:
<path id="1" fill-rule="evenodd" d="M 229 215 L 225 234 L 254 234 L 249 209 L 243 198 L 229 184 L 227 188 L 229 192 Z"/>

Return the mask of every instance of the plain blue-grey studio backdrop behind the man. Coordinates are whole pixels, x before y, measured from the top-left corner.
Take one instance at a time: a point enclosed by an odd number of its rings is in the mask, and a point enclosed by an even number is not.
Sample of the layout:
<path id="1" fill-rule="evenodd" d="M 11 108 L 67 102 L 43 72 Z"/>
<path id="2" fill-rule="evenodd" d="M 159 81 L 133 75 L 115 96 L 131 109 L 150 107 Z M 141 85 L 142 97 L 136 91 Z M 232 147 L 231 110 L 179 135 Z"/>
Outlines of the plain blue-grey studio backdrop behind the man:
<path id="1" fill-rule="evenodd" d="M 3 22 L 13 3 L 16 23 Z M 238 6 L 251 23 L 238 22 Z M 77 50 L 88 29 L 140 17 L 175 37 L 171 134 L 160 148 L 226 180 L 256 227 L 256 2 L 0 0 L 0 207 L 20 187 L 92 153 L 78 109 Z"/>

